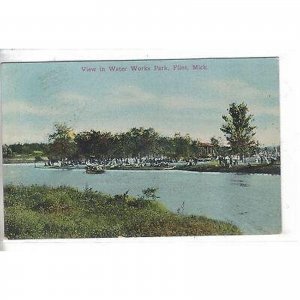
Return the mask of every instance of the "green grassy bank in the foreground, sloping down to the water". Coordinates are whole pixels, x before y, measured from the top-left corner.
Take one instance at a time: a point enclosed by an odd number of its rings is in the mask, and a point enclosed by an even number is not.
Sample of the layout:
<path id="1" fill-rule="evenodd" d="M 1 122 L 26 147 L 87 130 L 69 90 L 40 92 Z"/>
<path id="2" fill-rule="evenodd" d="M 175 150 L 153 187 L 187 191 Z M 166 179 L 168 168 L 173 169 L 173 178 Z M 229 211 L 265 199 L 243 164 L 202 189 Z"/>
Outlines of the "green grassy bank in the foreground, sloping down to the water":
<path id="1" fill-rule="evenodd" d="M 240 234 L 226 222 L 168 211 L 156 200 L 70 187 L 4 188 L 8 239 Z"/>

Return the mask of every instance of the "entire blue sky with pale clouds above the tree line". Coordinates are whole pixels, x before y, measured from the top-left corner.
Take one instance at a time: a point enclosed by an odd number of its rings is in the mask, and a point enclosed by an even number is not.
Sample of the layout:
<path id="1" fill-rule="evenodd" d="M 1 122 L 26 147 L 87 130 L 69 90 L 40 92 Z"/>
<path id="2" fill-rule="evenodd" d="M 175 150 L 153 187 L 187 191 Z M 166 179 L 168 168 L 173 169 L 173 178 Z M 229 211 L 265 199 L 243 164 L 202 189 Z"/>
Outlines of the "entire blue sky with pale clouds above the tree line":
<path id="1" fill-rule="evenodd" d="M 278 145 L 278 72 L 277 58 L 4 63 L 2 142 L 47 142 L 56 122 L 76 132 L 153 127 L 207 142 L 223 137 L 229 104 L 244 102 L 256 139 Z"/>

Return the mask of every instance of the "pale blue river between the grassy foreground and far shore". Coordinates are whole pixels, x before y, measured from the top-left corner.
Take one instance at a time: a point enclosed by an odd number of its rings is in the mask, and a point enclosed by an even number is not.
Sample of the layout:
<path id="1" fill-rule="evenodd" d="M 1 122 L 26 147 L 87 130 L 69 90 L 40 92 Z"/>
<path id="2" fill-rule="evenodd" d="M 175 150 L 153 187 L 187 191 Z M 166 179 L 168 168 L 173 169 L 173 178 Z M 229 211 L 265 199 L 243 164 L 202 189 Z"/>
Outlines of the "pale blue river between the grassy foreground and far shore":
<path id="1" fill-rule="evenodd" d="M 230 221 L 244 234 L 281 231 L 280 176 L 263 174 L 199 173 L 178 170 L 123 171 L 86 174 L 84 170 L 34 168 L 32 164 L 3 166 L 4 184 L 68 185 L 109 193 L 141 195 L 148 187 L 176 212 Z"/>

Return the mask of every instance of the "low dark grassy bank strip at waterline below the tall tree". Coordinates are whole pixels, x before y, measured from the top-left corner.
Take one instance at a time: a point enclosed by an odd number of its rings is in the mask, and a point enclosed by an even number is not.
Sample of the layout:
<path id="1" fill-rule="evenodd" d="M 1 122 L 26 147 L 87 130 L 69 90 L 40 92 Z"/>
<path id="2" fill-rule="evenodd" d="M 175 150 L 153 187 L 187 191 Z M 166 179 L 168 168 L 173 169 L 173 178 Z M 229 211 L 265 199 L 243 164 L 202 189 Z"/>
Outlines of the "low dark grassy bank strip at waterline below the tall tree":
<path id="1" fill-rule="evenodd" d="M 224 167 L 213 164 L 204 164 L 197 166 L 181 166 L 176 170 L 195 171 L 195 172 L 222 172 L 222 173 L 246 173 L 246 174 L 271 174 L 280 175 L 280 165 L 239 165 L 232 167 Z"/>

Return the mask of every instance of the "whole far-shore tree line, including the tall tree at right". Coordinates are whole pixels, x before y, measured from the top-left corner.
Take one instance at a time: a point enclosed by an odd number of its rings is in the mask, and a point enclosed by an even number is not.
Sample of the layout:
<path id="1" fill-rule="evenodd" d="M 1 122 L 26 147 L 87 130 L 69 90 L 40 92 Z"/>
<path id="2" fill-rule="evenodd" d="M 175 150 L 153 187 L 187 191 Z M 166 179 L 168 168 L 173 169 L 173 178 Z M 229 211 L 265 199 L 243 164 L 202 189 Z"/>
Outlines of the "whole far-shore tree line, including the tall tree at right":
<path id="1" fill-rule="evenodd" d="M 25 143 L 4 145 L 3 156 L 32 155 L 40 152 L 49 159 L 128 158 L 164 156 L 171 159 L 195 159 L 207 157 L 207 147 L 214 155 L 251 155 L 258 147 L 254 139 L 253 115 L 249 114 L 245 103 L 232 103 L 228 114 L 223 115 L 224 124 L 220 128 L 227 145 L 220 138 L 212 137 L 210 145 L 192 139 L 189 134 L 175 133 L 172 137 L 163 136 L 153 128 L 131 128 L 126 132 L 75 131 L 65 123 L 56 123 L 48 143 Z"/>

